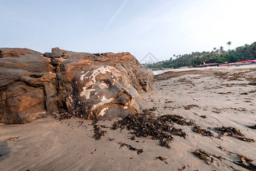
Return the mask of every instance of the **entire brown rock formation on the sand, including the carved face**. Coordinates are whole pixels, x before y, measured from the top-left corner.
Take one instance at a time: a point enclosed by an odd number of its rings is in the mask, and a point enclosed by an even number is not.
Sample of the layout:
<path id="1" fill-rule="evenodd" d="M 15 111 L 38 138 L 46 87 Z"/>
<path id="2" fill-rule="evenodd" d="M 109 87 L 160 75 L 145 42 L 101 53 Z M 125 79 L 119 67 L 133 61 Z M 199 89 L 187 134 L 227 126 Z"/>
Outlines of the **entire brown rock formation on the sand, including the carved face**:
<path id="1" fill-rule="evenodd" d="M 153 72 L 128 52 L 0 48 L 0 79 L 0 122 L 18 124 L 59 109 L 90 120 L 137 113 Z"/>

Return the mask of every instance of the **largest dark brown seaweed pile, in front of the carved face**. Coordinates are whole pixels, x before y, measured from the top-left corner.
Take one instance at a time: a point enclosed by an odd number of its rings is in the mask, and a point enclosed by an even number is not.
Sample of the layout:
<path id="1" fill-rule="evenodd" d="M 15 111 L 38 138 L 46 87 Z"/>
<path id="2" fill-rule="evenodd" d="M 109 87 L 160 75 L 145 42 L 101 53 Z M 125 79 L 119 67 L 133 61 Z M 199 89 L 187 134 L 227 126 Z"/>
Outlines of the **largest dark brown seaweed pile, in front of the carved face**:
<path id="1" fill-rule="evenodd" d="M 145 109 L 141 113 L 135 115 L 128 115 L 122 120 L 112 124 L 111 129 L 124 129 L 132 130 L 130 133 L 134 135 L 132 140 L 136 137 L 151 136 L 153 140 L 159 140 L 160 146 L 170 148 L 168 143 L 173 140 L 172 135 L 186 137 L 186 133 L 182 129 L 176 129 L 173 125 L 158 119 L 150 109 Z"/>

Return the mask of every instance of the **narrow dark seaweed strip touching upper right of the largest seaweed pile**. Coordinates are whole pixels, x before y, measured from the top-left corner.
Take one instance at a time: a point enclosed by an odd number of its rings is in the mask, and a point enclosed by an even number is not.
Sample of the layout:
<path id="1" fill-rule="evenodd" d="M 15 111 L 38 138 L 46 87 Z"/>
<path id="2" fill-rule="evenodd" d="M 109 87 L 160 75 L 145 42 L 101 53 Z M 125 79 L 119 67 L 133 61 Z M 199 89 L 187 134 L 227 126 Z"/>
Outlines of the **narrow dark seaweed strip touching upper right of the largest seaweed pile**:
<path id="1" fill-rule="evenodd" d="M 188 126 L 192 126 L 192 125 L 196 125 L 193 121 L 187 121 L 184 117 L 180 116 L 180 115 L 162 115 L 160 117 L 157 118 L 159 121 L 161 121 L 161 123 L 177 123 L 179 125 L 188 125 Z"/>

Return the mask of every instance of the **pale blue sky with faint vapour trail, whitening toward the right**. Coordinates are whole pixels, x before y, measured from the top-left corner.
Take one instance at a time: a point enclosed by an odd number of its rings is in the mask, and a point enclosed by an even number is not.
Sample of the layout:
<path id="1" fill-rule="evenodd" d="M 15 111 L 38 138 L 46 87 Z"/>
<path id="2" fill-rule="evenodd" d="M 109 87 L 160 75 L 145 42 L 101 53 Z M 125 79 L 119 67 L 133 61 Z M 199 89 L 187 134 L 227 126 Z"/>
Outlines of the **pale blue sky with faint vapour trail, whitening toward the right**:
<path id="1" fill-rule="evenodd" d="M 0 47 L 130 52 L 141 63 L 150 52 L 157 62 L 256 42 L 255 7 L 255 0 L 0 0 Z"/>

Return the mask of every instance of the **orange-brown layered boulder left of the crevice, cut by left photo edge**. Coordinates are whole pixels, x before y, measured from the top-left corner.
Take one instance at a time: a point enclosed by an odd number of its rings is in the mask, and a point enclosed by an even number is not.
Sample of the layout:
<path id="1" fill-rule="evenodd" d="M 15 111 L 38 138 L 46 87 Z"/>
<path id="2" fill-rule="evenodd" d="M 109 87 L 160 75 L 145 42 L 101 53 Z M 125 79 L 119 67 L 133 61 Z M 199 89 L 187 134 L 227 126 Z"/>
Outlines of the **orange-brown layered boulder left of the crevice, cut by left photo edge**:
<path id="1" fill-rule="evenodd" d="M 56 76 L 48 58 L 26 48 L 0 48 L 0 54 L 2 123 L 31 122 L 58 109 Z"/>

